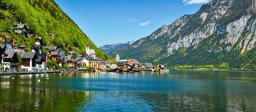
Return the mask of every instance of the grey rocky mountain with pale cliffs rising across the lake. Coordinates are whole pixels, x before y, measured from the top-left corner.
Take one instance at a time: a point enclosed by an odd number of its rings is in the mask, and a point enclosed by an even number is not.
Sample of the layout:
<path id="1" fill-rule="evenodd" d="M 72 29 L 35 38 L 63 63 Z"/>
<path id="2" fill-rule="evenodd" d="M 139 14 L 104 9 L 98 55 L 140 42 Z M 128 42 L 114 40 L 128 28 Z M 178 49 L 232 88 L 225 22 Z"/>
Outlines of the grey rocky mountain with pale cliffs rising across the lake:
<path id="1" fill-rule="evenodd" d="M 256 68 L 255 10 L 255 0 L 213 0 L 122 49 L 121 58 L 168 66 L 226 62 Z"/>

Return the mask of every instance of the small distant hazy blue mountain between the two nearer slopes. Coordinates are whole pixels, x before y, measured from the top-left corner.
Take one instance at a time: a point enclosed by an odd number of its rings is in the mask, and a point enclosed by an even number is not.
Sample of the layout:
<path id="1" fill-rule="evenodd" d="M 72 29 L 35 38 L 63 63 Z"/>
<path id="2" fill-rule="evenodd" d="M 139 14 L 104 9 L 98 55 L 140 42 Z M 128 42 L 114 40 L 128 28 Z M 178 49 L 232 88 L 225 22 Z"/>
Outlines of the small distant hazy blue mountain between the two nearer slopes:
<path id="1" fill-rule="evenodd" d="M 120 41 L 118 43 L 112 43 L 100 46 L 99 49 L 101 49 L 104 53 L 112 53 L 117 50 L 117 46 L 119 46 L 119 49 L 126 48 L 127 46 L 133 44 L 134 41 Z"/>

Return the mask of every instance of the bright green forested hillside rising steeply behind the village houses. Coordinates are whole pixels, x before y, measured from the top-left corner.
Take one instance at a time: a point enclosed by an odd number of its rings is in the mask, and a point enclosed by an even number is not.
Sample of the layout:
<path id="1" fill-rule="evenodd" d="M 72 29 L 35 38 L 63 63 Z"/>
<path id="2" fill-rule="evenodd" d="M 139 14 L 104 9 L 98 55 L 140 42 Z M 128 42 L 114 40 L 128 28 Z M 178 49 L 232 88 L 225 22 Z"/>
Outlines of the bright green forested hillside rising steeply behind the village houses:
<path id="1" fill-rule="evenodd" d="M 20 22 L 29 26 L 31 38 L 24 38 L 12 31 L 12 25 Z M 36 35 L 42 36 L 45 46 L 54 45 L 66 52 L 72 49 L 82 54 L 86 53 L 85 47 L 89 43 L 99 58 L 110 58 L 92 43 L 53 0 L 1 0 L 0 33 L 14 39 L 17 45 L 27 46 L 34 44 Z"/>

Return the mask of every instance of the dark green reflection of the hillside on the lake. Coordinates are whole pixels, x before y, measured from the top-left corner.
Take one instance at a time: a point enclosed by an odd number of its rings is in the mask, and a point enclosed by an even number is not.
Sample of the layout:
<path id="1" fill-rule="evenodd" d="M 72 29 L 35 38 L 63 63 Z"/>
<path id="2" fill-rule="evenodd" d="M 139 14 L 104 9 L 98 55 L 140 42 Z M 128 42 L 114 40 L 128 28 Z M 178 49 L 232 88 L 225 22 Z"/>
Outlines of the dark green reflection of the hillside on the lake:
<path id="1" fill-rule="evenodd" d="M 0 77 L 0 111 L 78 111 L 94 95 L 48 88 L 50 82 L 43 80 L 45 77 L 48 75 L 16 76 L 14 80 Z"/>

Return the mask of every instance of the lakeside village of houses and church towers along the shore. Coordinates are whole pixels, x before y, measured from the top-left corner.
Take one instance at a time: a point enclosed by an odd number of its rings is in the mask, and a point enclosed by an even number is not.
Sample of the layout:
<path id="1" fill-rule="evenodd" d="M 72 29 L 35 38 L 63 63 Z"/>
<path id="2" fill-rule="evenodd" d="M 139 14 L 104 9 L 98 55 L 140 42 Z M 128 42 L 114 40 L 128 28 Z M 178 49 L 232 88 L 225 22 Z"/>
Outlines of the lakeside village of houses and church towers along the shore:
<path id="1" fill-rule="evenodd" d="M 19 23 L 12 29 L 16 34 L 28 38 L 28 25 Z M 32 46 L 16 45 L 12 38 L 0 36 L 0 72 L 45 72 L 56 69 L 60 69 L 64 73 L 164 72 L 164 65 L 154 67 L 152 63 L 140 63 L 136 59 L 120 59 L 118 49 L 114 61 L 101 60 L 97 58 L 95 50 L 90 49 L 89 44 L 85 48 L 86 55 L 82 55 L 73 50 L 66 53 L 57 46 L 43 46 L 43 38 L 37 35 L 34 40 L 35 43 Z M 32 52 L 27 51 L 28 47 Z M 47 51 L 47 53 L 43 51 Z"/>

